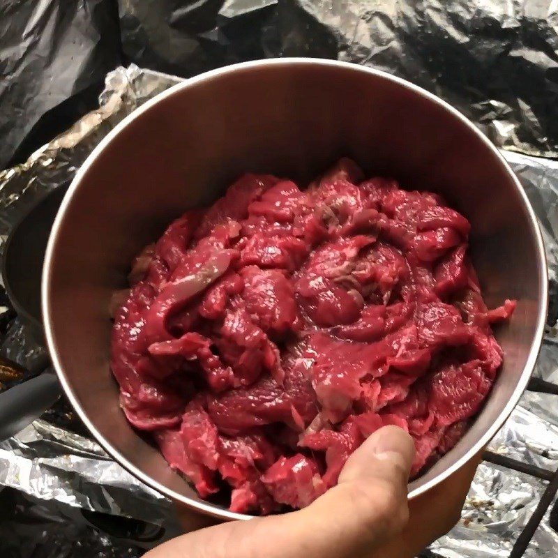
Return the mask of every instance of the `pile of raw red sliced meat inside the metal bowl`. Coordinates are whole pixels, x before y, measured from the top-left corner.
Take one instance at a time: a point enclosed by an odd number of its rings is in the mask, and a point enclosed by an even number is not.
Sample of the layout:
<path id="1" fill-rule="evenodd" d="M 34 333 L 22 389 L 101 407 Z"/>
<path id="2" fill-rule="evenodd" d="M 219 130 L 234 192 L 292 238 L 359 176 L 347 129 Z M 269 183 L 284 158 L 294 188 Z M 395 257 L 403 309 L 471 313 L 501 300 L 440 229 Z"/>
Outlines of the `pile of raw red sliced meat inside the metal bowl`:
<path id="1" fill-rule="evenodd" d="M 502 349 L 467 258 L 469 222 L 439 195 L 365 180 L 342 159 L 301 190 L 246 174 L 133 262 L 114 299 L 121 407 L 201 497 L 307 506 L 383 425 L 416 476 L 481 407 Z"/>

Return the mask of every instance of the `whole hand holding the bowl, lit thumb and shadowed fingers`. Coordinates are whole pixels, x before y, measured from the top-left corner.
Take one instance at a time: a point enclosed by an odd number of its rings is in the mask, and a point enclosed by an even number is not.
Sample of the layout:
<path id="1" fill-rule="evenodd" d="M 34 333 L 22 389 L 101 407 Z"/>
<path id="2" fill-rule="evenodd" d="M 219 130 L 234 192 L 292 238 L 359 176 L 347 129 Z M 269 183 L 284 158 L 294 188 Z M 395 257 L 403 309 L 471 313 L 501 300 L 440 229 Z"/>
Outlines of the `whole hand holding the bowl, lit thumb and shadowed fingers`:
<path id="1" fill-rule="evenodd" d="M 144 558 L 413 558 L 460 517 L 480 454 L 407 502 L 412 438 L 386 426 L 355 451 L 337 486 L 307 508 L 179 536 Z"/>

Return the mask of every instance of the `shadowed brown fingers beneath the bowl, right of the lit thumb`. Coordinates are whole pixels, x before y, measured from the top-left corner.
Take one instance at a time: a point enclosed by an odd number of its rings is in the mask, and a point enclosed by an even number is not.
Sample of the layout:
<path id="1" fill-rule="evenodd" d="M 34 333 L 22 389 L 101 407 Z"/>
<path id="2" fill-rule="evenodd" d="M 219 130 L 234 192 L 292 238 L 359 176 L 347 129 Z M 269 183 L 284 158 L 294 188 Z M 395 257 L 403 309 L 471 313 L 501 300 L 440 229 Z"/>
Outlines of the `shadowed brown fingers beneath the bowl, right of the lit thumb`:
<path id="1" fill-rule="evenodd" d="M 386 542 L 374 558 L 414 558 L 460 520 L 482 451 L 445 481 L 409 502 L 409 522 L 396 541 Z"/>

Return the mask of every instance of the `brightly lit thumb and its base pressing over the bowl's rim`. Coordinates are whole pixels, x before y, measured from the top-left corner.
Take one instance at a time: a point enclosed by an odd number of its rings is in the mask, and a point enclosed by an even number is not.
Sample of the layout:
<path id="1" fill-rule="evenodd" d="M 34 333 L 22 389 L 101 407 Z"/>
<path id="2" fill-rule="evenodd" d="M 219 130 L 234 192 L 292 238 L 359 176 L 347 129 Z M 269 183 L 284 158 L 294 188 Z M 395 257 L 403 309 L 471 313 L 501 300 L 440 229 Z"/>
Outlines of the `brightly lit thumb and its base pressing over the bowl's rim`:
<path id="1" fill-rule="evenodd" d="M 337 486 L 303 510 L 181 536 L 144 558 L 354 558 L 401 531 L 408 516 L 411 437 L 377 430 L 351 456 Z"/>

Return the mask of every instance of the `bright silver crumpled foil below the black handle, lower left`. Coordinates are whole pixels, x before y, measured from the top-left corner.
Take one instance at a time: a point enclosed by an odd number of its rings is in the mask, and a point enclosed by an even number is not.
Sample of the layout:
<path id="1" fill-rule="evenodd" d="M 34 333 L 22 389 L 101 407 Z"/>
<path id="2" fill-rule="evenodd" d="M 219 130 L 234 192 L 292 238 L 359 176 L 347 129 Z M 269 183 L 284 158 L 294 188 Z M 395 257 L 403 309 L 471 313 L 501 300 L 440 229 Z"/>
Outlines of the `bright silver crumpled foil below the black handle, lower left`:
<path id="1" fill-rule="evenodd" d="M 1 444 L 0 483 L 41 499 L 155 524 L 171 507 L 96 442 L 42 420 Z"/>

